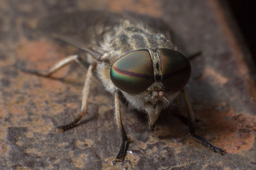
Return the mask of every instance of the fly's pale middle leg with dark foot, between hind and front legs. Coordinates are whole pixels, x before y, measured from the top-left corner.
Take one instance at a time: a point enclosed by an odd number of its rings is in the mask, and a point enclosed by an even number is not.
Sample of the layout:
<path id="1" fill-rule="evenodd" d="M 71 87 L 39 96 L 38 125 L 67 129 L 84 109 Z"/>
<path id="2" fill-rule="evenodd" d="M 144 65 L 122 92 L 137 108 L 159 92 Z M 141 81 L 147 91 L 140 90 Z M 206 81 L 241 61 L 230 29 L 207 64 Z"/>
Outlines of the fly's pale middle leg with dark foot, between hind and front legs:
<path id="1" fill-rule="evenodd" d="M 91 64 L 86 73 L 86 78 L 84 80 L 81 112 L 76 117 L 76 119 L 73 122 L 71 122 L 70 124 L 61 125 L 60 127 L 58 127 L 56 129 L 57 132 L 64 132 L 64 131 L 67 131 L 68 129 L 75 127 L 77 125 L 77 123 L 79 122 L 79 120 L 81 120 L 81 118 L 85 115 L 86 108 L 87 108 L 88 95 L 89 95 L 89 90 L 90 90 L 90 83 L 92 81 L 92 71 L 95 68 L 95 66 L 96 66 L 96 64 Z"/>

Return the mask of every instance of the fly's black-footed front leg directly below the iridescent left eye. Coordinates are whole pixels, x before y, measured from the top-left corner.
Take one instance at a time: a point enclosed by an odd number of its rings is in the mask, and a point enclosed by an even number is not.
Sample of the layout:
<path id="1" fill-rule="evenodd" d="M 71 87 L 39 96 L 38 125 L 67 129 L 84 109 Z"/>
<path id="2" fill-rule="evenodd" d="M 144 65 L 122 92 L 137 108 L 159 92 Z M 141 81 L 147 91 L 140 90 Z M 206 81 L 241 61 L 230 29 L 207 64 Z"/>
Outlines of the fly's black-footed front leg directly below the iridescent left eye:
<path id="1" fill-rule="evenodd" d="M 128 146 L 128 139 L 127 139 L 126 133 L 124 131 L 124 127 L 123 127 L 122 119 L 121 119 L 121 115 L 120 115 L 119 96 L 120 96 L 120 91 L 116 91 L 115 92 L 115 119 L 116 119 L 116 124 L 117 124 L 118 130 L 121 132 L 121 136 L 122 136 L 122 145 L 120 147 L 118 155 L 116 156 L 116 159 L 124 160 L 127 146 Z"/>

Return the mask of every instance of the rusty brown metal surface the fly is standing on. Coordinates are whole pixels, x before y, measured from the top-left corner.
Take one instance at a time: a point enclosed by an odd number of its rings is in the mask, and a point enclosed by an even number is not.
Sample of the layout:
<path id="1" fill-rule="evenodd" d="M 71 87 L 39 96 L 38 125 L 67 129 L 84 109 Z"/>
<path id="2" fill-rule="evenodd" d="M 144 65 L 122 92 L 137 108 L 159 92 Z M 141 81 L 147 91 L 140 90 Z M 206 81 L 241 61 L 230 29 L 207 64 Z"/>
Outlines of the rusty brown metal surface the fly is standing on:
<path id="1" fill-rule="evenodd" d="M 131 141 L 124 162 L 113 166 L 121 141 L 113 96 L 93 78 L 88 113 L 63 134 L 55 127 L 74 120 L 85 72 L 72 64 L 61 80 L 22 73 L 15 64 L 47 69 L 76 53 L 71 46 L 36 34 L 50 11 L 132 10 L 163 18 L 180 38 L 191 62 L 187 85 L 196 131 L 226 155 L 213 153 L 188 135 L 188 125 L 163 113 L 152 133 L 147 119 L 122 106 Z M 228 27 L 218 1 L 14 1 L 0 0 L 0 169 L 256 169 L 256 90 L 253 68 Z M 184 48 L 185 47 L 185 48 Z M 186 50 L 185 50 L 186 49 Z M 248 56 L 246 57 L 248 61 Z M 186 114 L 180 107 L 172 113 Z"/>

